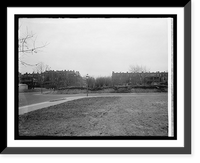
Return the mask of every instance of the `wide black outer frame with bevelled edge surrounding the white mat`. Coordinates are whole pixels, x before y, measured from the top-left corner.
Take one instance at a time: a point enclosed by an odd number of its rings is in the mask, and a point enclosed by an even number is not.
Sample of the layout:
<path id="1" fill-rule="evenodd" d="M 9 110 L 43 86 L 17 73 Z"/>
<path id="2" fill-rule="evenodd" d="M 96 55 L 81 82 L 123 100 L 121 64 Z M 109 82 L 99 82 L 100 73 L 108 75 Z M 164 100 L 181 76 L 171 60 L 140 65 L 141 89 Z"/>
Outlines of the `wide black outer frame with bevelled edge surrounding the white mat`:
<path id="1" fill-rule="evenodd" d="M 191 155 L 193 153 L 193 2 L 189 1 L 184 6 L 184 147 L 7 147 L 7 110 L 3 110 L 4 117 L 3 143 L 1 156 L 13 155 Z M 158 6 L 157 6 L 158 7 Z M 177 6 L 176 6 L 177 7 Z M 5 58 L 6 60 L 6 58 Z M 6 68 L 6 66 L 5 66 Z M 7 72 L 6 72 L 7 73 Z M 5 74 L 6 74 L 5 73 Z M 5 75 L 6 76 L 6 75 Z M 7 77 L 7 76 L 6 76 Z M 7 81 L 5 81 L 7 85 Z M 5 95 L 7 97 L 7 90 Z M 6 101 L 6 100 L 5 100 Z M 6 106 L 6 102 L 5 102 Z"/>

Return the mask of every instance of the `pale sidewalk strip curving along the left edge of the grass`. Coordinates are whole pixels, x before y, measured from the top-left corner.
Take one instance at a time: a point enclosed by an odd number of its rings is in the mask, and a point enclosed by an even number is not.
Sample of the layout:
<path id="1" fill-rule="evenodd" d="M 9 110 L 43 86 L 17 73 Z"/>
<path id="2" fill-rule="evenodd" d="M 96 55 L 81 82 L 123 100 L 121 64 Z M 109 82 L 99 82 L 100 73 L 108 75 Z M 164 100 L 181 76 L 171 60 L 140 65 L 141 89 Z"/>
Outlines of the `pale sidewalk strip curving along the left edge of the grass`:
<path id="1" fill-rule="evenodd" d="M 88 97 L 94 97 L 94 96 L 88 96 Z M 36 103 L 36 104 L 32 104 L 32 105 L 21 106 L 21 107 L 19 107 L 19 115 L 28 113 L 30 111 L 42 109 L 45 107 L 61 104 L 61 103 L 67 102 L 67 101 L 81 99 L 81 98 L 87 98 L 87 96 L 65 97 L 65 98 L 50 100 L 50 101 L 46 101 L 46 102 Z"/>

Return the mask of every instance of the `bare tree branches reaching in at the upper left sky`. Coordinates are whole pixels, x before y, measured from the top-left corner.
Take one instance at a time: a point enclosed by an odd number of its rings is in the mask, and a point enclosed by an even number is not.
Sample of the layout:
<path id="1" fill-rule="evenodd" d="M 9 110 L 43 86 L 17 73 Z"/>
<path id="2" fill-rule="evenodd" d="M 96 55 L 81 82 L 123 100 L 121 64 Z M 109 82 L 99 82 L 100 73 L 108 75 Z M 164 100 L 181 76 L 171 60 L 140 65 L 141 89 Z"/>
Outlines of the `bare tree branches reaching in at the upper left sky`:
<path id="1" fill-rule="evenodd" d="M 20 26 L 21 27 L 21 26 Z M 22 60 L 23 55 L 38 53 L 42 48 L 46 47 L 48 43 L 43 45 L 36 45 L 37 36 L 32 32 L 28 31 L 26 28 L 25 36 L 20 35 L 19 28 L 19 38 L 18 38 L 18 52 L 19 52 L 19 63 L 24 66 L 37 66 L 36 64 L 30 64 Z"/>

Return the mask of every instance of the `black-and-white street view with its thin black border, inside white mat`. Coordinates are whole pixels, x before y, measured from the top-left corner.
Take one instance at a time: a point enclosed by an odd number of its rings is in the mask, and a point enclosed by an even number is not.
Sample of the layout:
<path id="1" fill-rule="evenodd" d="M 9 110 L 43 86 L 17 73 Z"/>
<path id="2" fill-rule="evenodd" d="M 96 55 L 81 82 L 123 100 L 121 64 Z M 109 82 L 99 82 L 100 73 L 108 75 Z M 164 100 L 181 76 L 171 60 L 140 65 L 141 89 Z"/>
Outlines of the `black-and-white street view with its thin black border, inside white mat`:
<path id="1" fill-rule="evenodd" d="M 18 16 L 17 138 L 173 138 L 174 17 Z"/>

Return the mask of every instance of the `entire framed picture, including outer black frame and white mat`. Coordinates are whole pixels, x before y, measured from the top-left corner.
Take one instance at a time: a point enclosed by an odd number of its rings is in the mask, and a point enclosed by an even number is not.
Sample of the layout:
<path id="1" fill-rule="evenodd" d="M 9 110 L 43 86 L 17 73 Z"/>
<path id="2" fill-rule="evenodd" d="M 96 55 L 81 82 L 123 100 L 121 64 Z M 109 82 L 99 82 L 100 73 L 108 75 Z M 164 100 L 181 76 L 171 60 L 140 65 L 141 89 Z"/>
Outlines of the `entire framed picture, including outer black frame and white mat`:
<path id="1" fill-rule="evenodd" d="M 194 152 L 194 1 L 143 3 L 7 6 L 1 157 Z"/>

